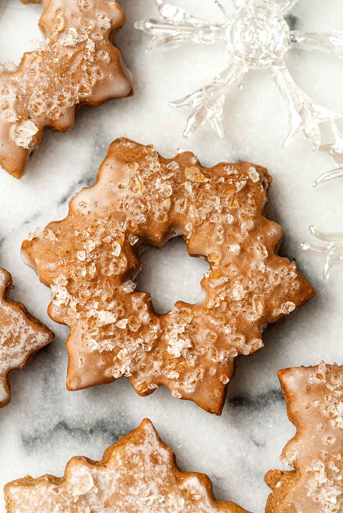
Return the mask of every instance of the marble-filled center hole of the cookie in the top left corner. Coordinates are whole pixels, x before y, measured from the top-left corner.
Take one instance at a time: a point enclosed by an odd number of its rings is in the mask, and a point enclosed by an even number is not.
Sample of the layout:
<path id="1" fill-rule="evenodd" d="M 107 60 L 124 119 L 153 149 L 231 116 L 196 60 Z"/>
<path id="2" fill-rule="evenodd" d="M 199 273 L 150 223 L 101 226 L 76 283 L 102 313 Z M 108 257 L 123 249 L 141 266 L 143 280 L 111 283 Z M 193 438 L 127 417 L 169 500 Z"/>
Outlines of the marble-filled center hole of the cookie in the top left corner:
<path id="1" fill-rule="evenodd" d="M 38 27 L 42 11 L 42 4 L 0 0 L 0 62 L 11 61 L 18 65 L 24 52 L 33 50 L 31 41 L 43 40 Z"/>

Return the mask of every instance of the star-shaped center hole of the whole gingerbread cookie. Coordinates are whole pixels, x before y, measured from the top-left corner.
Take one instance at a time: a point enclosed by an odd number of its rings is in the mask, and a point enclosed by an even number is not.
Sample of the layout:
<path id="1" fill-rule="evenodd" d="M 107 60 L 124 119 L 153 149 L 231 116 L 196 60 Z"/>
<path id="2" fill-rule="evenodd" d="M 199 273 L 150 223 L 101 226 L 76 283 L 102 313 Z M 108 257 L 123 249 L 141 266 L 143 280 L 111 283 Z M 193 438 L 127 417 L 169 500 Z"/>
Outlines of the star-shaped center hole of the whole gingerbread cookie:
<path id="1" fill-rule="evenodd" d="M 136 290 L 149 292 L 156 312 L 167 313 L 176 301 L 194 304 L 201 299 L 200 281 L 209 264 L 190 257 L 180 237 L 171 239 L 163 249 L 148 247 L 139 257 L 142 271 Z"/>

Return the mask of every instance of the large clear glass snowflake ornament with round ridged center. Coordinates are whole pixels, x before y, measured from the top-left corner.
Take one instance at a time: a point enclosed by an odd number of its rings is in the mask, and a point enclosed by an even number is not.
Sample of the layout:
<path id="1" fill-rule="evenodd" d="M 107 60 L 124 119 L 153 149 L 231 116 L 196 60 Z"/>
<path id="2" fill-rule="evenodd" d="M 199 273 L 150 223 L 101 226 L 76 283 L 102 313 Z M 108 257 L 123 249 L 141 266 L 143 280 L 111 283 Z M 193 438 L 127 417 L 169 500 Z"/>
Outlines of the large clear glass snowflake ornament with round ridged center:
<path id="1" fill-rule="evenodd" d="M 135 28 L 153 36 L 147 52 L 155 48 L 175 48 L 185 43 L 214 44 L 225 41 L 228 63 L 209 84 L 169 103 L 172 107 L 189 106 L 185 137 L 190 137 L 209 123 L 219 137 L 224 137 L 223 107 L 233 86 L 243 85 L 249 69 L 267 68 L 289 108 L 289 129 L 284 146 L 302 132 L 315 149 L 321 145 L 320 123 L 343 117 L 315 103 L 293 81 L 284 55 L 291 48 L 327 52 L 343 58 L 343 32 L 291 31 L 285 16 L 297 0 L 234 0 L 237 8 L 228 16 L 219 0 L 212 0 L 226 15 L 226 23 L 201 19 L 163 0 L 155 0 L 158 19 L 145 19 Z"/>

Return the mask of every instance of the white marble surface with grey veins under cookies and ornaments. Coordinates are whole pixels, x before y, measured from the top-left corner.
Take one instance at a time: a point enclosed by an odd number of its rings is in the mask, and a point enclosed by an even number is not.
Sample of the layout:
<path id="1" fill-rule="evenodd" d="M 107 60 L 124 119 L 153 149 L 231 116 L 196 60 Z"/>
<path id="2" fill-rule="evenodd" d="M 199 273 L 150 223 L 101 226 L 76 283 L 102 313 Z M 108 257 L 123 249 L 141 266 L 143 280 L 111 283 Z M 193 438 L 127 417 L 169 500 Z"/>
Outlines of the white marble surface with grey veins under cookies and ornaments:
<path id="1" fill-rule="evenodd" d="M 225 48 L 220 44 L 189 47 L 147 56 L 148 36 L 135 31 L 133 23 L 154 14 L 153 1 L 122 0 L 121 4 L 128 23 L 117 43 L 134 74 L 134 97 L 82 109 L 68 133 L 46 132 L 23 180 L 15 181 L 0 170 L 0 265 L 13 275 L 12 297 L 23 301 L 56 333 L 53 343 L 11 376 L 12 402 L 0 411 L 0 486 L 27 474 L 61 476 L 74 455 L 99 459 L 118 436 L 149 417 L 173 448 L 181 468 L 206 472 L 217 498 L 262 513 L 268 495 L 265 472 L 283 468 L 278 455 L 294 432 L 287 421 L 277 369 L 317 364 L 321 359 L 343 363 L 343 268 L 332 271 L 329 282 L 324 282 L 323 257 L 299 248 L 300 241 L 309 239 L 311 223 L 321 230 L 342 231 L 343 182 L 311 189 L 312 180 L 332 167 L 330 157 L 313 153 L 301 137 L 291 147 L 281 148 L 287 109 L 268 72 L 250 72 L 245 89 L 232 91 L 225 107 L 226 140 L 217 139 L 209 127 L 184 140 L 181 133 L 189 111 L 173 110 L 166 103 L 212 78 L 225 63 Z M 209 1 L 201 6 L 196 0 L 186 4 L 193 12 L 213 13 L 220 19 Z M 185 2 L 180 0 L 180 5 Z M 37 28 L 41 11 L 39 5 L 0 0 L 0 61 L 18 62 L 23 51 L 31 49 L 30 40 L 41 37 Z M 342 29 L 340 0 L 300 0 L 292 14 L 297 29 Z M 287 62 L 297 83 L 316 101 L 343 109 L 343 63 L 295 50 L 288 53 Z M 269 215 L 284 227 L 280 253 L 294 259 L 317 290 L 306 306 L 267 328 L 265 348 L 238 358 L 220 418 L 174 399 L 163 387 L 140 398 L 124 378 L 68 392 L 68 328 L 48 319 L 49 289 L 21 262 L 19 249 L 29 229 L 67 214 L 68 200 L 94 182 L 109 144 L 122 135 L 153 143 L 167 157 L 176 148 L 192 150 L 207 166 L 223 160 L 267 166 L 274 179 Z M 139 287 L 151 292 L 157 310 L 166 311 L 176 299 L 198 299 L 198 283 L 207 266 L 190 259 L 182 242 L 172 241 L 163 251 L 148 251 L 143 261 Z"/>

